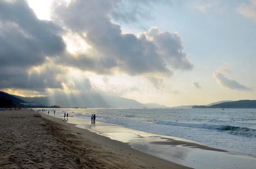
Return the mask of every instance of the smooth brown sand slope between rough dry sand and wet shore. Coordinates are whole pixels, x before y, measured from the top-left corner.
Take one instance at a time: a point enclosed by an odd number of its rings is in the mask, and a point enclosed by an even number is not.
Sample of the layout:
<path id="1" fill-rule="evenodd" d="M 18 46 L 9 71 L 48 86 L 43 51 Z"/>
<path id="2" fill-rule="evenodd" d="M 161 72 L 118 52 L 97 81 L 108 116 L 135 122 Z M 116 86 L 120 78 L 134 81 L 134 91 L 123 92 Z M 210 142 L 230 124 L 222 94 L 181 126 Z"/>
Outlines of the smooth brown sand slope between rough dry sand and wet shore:
<path id="1" fill-rule="evenodd" d="M 82 164 L 83 162 L 86 164 L 88 161 L 86 158 L 89 155 L 90 159 L 96 161 L 103 159 L 108 165 L 106 168 L 189 168 L 143 153 L 133 149 L 127 143 L 76 127 L 75 124 L 66 123 L 60 118 L 54 118 L 44 113 L 40 114 L 45 119 L 47 126 L 50 127 L 55 140 L 63 144 L 74 156 L 80 157 Z M 57 130 L 57 128 L 62 128 L 62 130 Z M 75 141 L 78 141 L 78 144 Z M 83 152 L 90 153 L 84 157 Z"/>

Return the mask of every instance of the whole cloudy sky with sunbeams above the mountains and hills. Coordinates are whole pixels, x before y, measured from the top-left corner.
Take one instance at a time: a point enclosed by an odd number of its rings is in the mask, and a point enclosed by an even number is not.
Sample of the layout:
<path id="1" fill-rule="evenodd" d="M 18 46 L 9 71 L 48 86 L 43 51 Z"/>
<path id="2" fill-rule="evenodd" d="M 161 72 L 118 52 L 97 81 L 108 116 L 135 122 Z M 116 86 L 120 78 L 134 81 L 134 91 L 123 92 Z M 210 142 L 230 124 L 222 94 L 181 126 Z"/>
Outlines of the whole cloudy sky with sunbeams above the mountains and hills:
<path id="1" fill-rule="evenodd" d="M 0 90 L 255 100 L 255 30 L 255 0 L 0 0 Z"/>

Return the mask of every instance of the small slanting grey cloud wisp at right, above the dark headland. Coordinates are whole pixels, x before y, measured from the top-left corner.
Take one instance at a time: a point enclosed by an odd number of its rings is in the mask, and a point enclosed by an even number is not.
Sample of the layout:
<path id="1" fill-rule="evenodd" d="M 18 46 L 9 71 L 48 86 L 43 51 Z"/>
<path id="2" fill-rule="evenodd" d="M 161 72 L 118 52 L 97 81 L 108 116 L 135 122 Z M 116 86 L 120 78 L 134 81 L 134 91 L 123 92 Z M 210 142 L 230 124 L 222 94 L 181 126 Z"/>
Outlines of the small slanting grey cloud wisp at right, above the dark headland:
<path id="1" fill-rule="evenodd" d="M 252 91 L 252 88 L 246 87 L 233 79 L 225 77 L 222 73 L 214 72 L 213 77 L 215 80 L 224 87 L 231 88 L 238 91 Z"/>

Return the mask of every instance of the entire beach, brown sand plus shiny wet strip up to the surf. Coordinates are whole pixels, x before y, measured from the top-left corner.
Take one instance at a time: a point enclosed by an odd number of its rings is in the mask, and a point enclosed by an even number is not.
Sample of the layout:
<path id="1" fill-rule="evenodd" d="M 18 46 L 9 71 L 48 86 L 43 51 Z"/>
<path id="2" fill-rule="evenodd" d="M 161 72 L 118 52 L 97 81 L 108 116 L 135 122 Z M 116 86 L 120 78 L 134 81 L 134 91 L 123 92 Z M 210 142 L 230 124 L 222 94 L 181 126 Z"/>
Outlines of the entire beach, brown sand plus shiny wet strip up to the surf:
<path id="1" fill-rule="evenodd" d="M 115 124 L 88 125 L 72 116 L 67 122 L 46 112 L 5 110 L 0 117 L 0 168 L 254 168 L 256 164 L 256 158 L 246 154 Z"/>

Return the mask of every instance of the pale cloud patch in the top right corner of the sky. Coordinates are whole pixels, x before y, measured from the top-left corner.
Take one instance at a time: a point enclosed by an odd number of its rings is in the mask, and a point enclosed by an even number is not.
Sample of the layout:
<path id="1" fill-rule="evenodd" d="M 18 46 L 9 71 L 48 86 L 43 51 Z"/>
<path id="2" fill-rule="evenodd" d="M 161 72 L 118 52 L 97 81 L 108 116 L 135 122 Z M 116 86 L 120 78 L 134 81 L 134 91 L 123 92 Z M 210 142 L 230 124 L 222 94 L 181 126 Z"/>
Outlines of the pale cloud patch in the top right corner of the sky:
<path id="1" fill-rule="evenodd" d="M 256 21 L 256 0 L 250 0 L 249 3 L 243 3 L 237 8 L 237 11 L 241 15 Z"/>

